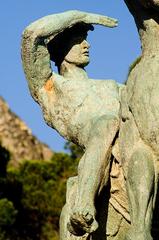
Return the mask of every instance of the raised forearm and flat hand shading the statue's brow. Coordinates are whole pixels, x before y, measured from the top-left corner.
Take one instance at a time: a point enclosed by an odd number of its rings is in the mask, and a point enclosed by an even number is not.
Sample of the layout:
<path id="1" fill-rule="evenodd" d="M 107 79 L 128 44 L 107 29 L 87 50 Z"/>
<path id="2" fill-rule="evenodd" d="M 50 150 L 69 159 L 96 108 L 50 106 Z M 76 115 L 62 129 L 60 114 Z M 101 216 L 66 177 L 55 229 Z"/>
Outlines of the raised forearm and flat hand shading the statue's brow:
<path id="1" fill-rule="evenodd" d="M 100 24 L 107 27 L 117 26 L 116 19 L 98 14 L 73 10 L 43 17 L 30 24 L 25 31 L 34 32 L 36 37 L 46 38 L 56 35 L 65 28 L 71 27 L 78 22 Z"/>

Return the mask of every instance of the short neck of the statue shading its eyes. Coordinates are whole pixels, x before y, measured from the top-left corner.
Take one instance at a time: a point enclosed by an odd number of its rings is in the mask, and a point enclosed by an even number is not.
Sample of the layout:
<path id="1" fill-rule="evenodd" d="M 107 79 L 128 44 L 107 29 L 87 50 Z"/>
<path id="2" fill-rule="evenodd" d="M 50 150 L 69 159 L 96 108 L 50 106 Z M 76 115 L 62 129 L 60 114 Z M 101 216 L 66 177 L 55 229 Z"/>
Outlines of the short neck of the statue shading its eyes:
<path id="1" fill-rule="evenodd" d="M 73 63 L 64 61 L 60 66 L 60 75 L 68 79 L 88 79 L 88 75 L 84 68 L 76 66 Z"/>

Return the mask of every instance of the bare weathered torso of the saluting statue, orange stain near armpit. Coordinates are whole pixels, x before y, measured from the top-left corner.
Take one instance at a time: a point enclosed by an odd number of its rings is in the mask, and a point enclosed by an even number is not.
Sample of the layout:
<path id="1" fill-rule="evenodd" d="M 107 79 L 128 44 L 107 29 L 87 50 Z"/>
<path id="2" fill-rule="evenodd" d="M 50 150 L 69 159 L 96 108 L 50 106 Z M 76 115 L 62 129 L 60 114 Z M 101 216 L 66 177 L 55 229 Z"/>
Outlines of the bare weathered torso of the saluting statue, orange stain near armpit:
<path id="1" fill-rule="evenodd" d="M 40 94 L 44 118 L 68 140 L 85 145 L 93 121 L 103 115 L 118 117 L 120 87 L 114 80 L 67 79 L 55 74 L 49 81 L 52 87 L 43 87 Z"/>

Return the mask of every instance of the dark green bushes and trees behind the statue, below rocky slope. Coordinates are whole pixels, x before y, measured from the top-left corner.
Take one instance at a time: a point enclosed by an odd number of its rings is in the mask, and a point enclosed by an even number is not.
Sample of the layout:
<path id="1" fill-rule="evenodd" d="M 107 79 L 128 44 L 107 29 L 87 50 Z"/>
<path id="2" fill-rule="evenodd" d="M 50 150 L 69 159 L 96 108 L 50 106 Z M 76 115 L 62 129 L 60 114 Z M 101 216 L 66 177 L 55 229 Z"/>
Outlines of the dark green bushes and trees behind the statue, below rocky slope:
<path id="1" fill-rule="evenodd" d="M 66 181 L 76 175 L 82 152 L 68 143 L 70 154 L 51 161 L 30 160 L 7 170 L 9 152 L 0 147 L 0 240 L 58 240 Z M 1 165 L 0 163 L 0 165 Z"/>

